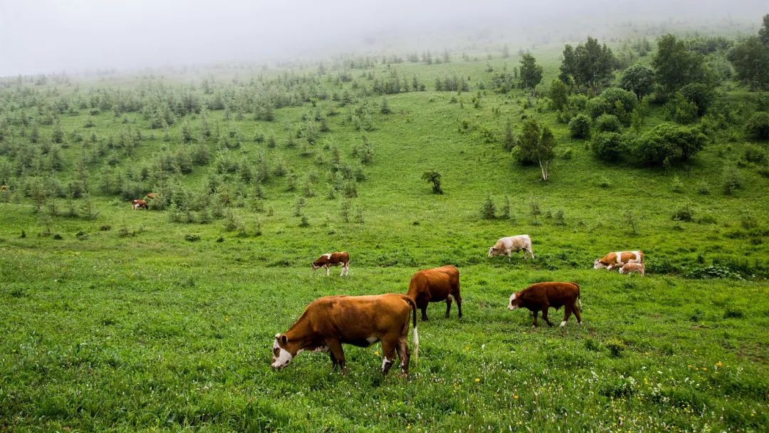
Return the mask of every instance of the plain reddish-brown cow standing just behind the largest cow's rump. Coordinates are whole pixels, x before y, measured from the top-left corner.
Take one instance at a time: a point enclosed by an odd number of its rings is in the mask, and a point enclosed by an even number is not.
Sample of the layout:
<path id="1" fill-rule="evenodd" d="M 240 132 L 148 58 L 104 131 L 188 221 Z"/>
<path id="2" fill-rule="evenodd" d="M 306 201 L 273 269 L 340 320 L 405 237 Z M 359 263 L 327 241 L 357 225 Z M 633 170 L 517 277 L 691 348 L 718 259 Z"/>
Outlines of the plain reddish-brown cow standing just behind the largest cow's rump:
<path id="1" fill-rule="evenodd" d="M 459 295 L 459 270 L 451 265 L 423 269 L 411 277 L 408 296 L 422 311 L 422 320 L 428 320 L 428 304 L 446 301 L 446 318 L 451 310 L 451 298 L 457 301 L 459 318 L 462 317 L 462 297 Z"/>

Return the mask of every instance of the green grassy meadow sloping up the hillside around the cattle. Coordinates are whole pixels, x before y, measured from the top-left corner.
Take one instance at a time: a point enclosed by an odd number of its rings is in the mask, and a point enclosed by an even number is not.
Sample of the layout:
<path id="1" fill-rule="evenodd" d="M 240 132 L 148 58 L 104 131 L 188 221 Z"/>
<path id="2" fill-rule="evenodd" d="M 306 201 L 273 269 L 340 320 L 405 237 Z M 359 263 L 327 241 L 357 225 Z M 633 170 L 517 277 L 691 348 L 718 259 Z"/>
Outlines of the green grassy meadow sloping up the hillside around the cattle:
<path id="1" fill-rule="evenodd" d="M 5 79 L 0 431 L 767 431 L 769 179 L 741 123 L 760 96 L 721 84 L 724 126 L 684 165 L 601 162 L 544 98 L 562 48 L 532 51 L 536 96 L 490 88 L 520 59 L 498 51 Z M 424 91 L 375 92 L 393 76 Z M 436 91 L 446 77 L 468 91 Z M 265 100 L 284 101 L 272 120 Z M 193 108 L 153 125 L 176 102 Z M 558 142 L 547 182 L 501 145 L 532 117 Z M 639 133 L 661 122 L 649 104 Z M 132 211 L 147 192 L 162 205 Z M 522 233 L 534 261 L 487 257 Z M 645 278 L 592 269 L 629 249 Z M 310 270 L 328 251 L 349 251 L 349 278 Z M 380 375 L 379 345 L 345 346 L 348 375 L 320 354 L 271 371 L 275 333 L 315 298 L 405 292 L 444 264 L 464 317 L 431 305 L 408 378 Z M 508 311 L 536 281 L 577 281 L 584 324 Z"/>

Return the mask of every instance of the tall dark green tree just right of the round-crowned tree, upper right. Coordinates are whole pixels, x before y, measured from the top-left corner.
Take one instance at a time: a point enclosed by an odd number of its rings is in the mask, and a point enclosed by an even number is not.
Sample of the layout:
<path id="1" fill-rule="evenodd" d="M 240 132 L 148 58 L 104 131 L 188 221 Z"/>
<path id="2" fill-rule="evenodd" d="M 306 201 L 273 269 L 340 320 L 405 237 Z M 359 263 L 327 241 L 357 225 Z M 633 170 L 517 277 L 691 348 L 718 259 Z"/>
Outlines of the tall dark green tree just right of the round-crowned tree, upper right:
<path id="1" fill-rule="evenodd" d="M 657 54 L 652 58 L 651 65 L 657 82 L 667 95 L 690 83 L 707 82 L 704 56 L 691 50 L 674 35 L 664 35 L 657 40 Z"/>

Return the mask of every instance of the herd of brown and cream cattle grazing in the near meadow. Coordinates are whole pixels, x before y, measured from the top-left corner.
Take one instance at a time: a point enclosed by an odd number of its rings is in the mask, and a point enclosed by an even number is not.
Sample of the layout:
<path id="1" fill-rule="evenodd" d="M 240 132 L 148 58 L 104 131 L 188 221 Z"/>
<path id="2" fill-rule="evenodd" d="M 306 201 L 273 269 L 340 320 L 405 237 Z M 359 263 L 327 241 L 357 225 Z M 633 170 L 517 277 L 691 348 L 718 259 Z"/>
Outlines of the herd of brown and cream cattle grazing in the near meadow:
<path id="1" fill-rule="evenodd" d="M 528 235 L 501 238 L 489 248 L 488 255 L 507 255 L 508 261 L 515 251 L 524 251 L 534 258 L 531 238 Z M 341 265 L 340 276 L 350 271 L 350 255 L 347 252 L 331 252 L 321 255 L 312 262 L 313 270 Z M 619 268 L 620 273 L 638 272 L 644 275 L 643 251 L 617 251 L 597 258 L 593 268 L 608 270 Z M 421 319 L 428 320 L 428 304 L 446 301 L 446 318 L 451 311 L 451 302 L 457 302 L 458 316 L 462 317 L 462 298 L 459 293 L 459 270 L 452 265 L 424 269 L 411 277 L 405 295 L 388 293 L 369 296 L 325 296 L 312 301 L 294 325 L 283 334 L 276 334 L 272 345 L 272 367 L 284 368 L 302 351 L 325 352 L 331 357 L 333 368 L 345 371 L 345 352 L 342 343 L 368 347 L 381 341 L 381 372 L 387 374 L 395 361 L 395 353 L 401 361 L 401 373 L 408 375 L 411 352 L 408 348 L 408 328 L 414 327 L 414 359 L 418 357 L 419 335 L 417 330 L 417 309 Z M 579 285 L 574 282 L 540 282 L 517 291 L 510 296 L 508 309 L 526 308 L 534 318 L 542 311 L 542 318 L 549 325 L 548 308 L 565 307 L 561 327 L 574 314 L 582 323 Z"/>

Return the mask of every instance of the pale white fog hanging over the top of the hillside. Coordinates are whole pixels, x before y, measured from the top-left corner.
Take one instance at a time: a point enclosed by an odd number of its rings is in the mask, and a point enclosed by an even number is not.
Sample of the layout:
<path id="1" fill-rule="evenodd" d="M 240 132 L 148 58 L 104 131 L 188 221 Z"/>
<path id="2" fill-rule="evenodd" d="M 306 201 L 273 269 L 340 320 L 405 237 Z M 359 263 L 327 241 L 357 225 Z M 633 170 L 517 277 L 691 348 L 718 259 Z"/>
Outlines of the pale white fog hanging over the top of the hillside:
<path id="1" fill-rule="evenodd" d="M 0 0 L 0 76 L 478 43 L 531 48 L 641 23 L 750 31 L 767 12 L 765 0 Z"/>

